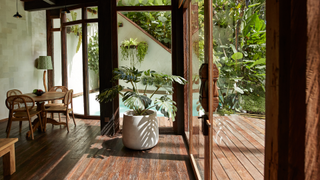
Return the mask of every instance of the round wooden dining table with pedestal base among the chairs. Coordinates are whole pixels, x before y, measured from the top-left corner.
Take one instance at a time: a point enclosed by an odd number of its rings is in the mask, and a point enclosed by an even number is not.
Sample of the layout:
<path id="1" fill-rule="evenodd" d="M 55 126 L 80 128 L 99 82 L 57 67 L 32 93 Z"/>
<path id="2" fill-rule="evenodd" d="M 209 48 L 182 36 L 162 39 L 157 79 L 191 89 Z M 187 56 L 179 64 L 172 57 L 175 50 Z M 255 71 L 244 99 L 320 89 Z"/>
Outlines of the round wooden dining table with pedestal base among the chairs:
<path id="1" fill-rule="evenodd" d="M 30 96 L 36 102 L 37 110 L 41 111 L 41 121 L 43 124 L 42 127 L 45 127 L 44 126 L 45 123 L 50 123 L 53 125 L 65 125 L 65 126 L 67 125 L 65 122 L 58 122 L 58 121 L 52 119 L 53 117 L 47 118 L 46 112 L 45 112 L 45 102 L 46 101 L 54 101 L 54 100 L 62 99 L 62 98 L 64 98 L 65 94 L 66 94 L 65 92 L 46 92 L 46 93 L 42 94 L 41 96 L 37 96 L 32 93 L 28 93 L 28 94 L 24 94 L 24 95 Z M 35 119 L 32 122 L 32 125 L 33 125 L 32 131 L 35 132 L 40 126 L 39 119 L 38 118 Z M 45 131 L 45 129 L 44 129 L 44 131 Z M 30 136 L 31 136 L 31 131 L 29 130 L 27 132 L 27 137 L 30 137 Z"/>

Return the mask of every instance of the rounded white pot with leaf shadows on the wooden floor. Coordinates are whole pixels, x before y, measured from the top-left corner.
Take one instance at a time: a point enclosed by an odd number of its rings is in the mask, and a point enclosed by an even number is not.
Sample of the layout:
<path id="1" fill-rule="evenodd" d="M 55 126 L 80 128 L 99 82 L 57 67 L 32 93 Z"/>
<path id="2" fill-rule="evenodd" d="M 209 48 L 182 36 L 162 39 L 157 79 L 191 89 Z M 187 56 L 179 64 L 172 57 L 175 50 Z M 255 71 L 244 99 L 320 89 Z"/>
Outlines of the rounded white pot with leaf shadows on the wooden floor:
<path id="1" fill-rule="evenodd" d="M 149 115 L 134 116 L 133 111 L 123 114 L 122 142 L 135 150 L 150 149 L 159 141 L 157 112 L 148 110 Z"/>

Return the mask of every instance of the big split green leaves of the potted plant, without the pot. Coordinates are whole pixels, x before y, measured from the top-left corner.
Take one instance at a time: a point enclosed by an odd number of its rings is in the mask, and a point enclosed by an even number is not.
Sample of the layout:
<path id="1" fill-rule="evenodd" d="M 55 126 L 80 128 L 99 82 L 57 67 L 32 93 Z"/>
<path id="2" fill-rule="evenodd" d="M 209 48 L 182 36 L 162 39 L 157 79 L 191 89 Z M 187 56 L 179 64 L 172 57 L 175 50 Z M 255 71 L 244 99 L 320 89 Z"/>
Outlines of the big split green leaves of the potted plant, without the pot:
<path id="1" fill-rule="evenodd" d="M 187 83 L 183 77 L 156 73 L 152 70 L 139 71 L 135 67 L 122 66 L 113 70 L 112 81 L 115 82 L 117 80 L 124 80 L 131 87 L 126 87 L 128 91 L 124 92 L 124 86 L 115 85 L 105 89 L 97 96 L 96 100 L 100 103 L 112 101 L 119 94 L 122 97 L 124 105 L 134 111 L 134 115 L 146 115 L 147 110 L 155 108 L 165 117 L 171 118 L 173 121 L 175 120 L 176 103 L 167 95 L 173 93 L 172 83 L 182 85 Z M 139 91 L 138 83 L 141 83 L 144 89 Z M 148 96 L 146 92 L 150 87 L 154 87 L 155 90 Z M 164 90 L 166 94 L 160 98 L 153 98 L 154 94 L 159 90 Z"/>

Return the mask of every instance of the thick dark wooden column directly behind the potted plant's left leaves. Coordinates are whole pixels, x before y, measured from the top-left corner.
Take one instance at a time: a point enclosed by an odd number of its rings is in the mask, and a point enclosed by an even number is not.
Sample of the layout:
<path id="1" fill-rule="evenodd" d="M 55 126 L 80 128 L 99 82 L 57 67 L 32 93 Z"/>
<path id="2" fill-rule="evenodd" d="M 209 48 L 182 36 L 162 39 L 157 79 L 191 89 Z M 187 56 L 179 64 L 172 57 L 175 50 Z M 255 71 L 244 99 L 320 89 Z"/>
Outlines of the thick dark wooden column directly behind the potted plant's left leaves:
<path id="1" fill-rule="evenodd" d="M 111 88 L 112 70 L 118 67 L 116 1 L 99 1 L 99 78 L 100 93 Z M 119 101 L 100 103 L 101 134 L 114 134 L 119 129 Z"/>

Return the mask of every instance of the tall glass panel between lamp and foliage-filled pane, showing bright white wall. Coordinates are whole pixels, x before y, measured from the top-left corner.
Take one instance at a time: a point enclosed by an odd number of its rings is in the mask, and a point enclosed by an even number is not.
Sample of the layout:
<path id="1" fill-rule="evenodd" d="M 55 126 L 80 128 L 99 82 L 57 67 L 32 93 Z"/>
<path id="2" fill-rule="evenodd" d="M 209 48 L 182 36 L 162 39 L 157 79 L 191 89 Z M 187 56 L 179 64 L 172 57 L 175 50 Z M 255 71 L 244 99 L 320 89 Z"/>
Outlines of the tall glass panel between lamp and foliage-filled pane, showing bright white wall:
<path id="1" fill-rule="evenodd" d="M 84 114 L 81 25 L 67 27 L 68 88 L 73 89 L 73 109 Z"/>

